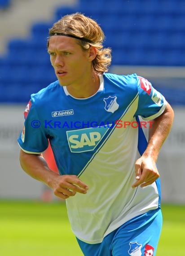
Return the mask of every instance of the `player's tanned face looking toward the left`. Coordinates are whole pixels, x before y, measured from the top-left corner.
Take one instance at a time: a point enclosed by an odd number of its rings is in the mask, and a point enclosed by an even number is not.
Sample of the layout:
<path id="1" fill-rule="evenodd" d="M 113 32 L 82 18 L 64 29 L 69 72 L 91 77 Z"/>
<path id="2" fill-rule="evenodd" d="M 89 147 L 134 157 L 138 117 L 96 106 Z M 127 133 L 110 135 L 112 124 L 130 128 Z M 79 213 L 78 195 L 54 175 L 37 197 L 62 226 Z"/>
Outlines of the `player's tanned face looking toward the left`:
<path id="1" fill-rule="evenodd" d="M 92 73 L 91 50 L 83 51 L 75 38 L 54 35 L 49 39 L 50 61 L 62 86 L 78 86 Z"/>

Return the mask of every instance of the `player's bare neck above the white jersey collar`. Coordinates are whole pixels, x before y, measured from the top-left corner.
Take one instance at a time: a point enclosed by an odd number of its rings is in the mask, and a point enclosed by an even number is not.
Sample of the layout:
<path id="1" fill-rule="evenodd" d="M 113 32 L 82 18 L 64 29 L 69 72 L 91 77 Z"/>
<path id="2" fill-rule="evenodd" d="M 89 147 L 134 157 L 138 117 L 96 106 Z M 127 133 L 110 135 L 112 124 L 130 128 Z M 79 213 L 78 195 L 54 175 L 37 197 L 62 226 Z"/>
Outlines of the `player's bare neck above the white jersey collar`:
<path id="1" fill-rule="evenodd" d="M 75 98 L 88 98 L 94 95 L 100 87 L 100 79 L 98 75 L 94 75 L 93 78 L 90 77 L 84 83 L 78 86 L 69 85 L 67 86 L 67 91 L 71 96 Z"/>

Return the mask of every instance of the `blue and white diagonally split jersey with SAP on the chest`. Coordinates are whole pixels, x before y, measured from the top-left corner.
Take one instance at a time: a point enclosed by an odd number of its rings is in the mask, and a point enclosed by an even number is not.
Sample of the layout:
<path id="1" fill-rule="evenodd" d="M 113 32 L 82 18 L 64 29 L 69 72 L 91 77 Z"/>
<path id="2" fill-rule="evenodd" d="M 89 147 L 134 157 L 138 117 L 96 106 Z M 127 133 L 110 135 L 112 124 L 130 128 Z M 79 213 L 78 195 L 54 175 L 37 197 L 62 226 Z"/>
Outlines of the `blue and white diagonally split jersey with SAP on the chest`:
<path id="1" fill-rule="evenodd" d="M 31 95 L 18 143 L 26 153 L 40 154 L 49 140 L 60 174 L 77 175 L 89 186 L 87 194 L 66 199 L 80 240 L 101 243 L 126 221 L 159 207 L 159 180 L 131 186 L 135 161 L 147 146 L 143 128 L 165 107 L 164 97 L 136 74 L 100 75 L 97 93 L 84 99 L 58 81 Z"/>

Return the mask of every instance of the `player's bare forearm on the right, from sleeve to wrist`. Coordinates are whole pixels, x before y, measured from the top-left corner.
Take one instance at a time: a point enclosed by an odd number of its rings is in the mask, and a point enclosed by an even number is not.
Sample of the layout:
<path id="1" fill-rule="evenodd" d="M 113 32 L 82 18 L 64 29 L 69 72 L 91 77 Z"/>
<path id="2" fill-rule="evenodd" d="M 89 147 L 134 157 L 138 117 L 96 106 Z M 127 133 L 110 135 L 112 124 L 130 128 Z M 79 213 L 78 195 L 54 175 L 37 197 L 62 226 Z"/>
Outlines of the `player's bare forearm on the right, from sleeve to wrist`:
<path id="1" fill-rule="evenodd" d="M 145 157 L 151 157 L 157 161 L 159 151 L 166 140 L 174 118 L 172 107 L 167 103 L 167 107 L 163 114 L 154 119 L 154 123 L 150 128 L 148 146 L 143 154 Z"/>

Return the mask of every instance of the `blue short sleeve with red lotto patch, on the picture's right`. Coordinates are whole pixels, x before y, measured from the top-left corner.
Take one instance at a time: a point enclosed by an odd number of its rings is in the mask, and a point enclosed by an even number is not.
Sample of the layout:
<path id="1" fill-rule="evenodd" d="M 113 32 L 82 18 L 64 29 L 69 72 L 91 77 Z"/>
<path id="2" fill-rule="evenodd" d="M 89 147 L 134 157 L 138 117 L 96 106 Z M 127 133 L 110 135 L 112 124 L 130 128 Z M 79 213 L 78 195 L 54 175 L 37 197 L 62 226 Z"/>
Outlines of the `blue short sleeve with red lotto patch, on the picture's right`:
<path id="1" fill-rule="evenodd" d="M 163 113 L 167 102 L 152 84 L 145 78 L 138 78 L 139 102 L 135 115 L 140 115 L 144 120 L 152 120 Z"/>

